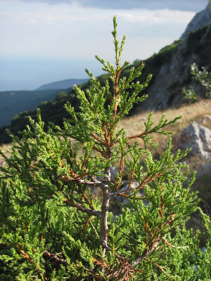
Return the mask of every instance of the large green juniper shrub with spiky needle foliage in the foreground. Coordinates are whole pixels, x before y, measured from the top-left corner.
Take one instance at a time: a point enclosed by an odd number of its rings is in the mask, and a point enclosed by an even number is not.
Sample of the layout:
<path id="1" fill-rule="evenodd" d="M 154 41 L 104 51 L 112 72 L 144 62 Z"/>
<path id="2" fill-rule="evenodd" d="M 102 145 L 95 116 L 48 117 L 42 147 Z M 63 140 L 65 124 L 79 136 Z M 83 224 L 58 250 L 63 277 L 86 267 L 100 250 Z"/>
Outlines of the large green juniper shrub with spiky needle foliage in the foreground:
<path id="1" fill-rule="evenodd" d="M 133 136 L 118 128 L 134 103 L 147 98 L 140 92 L 151 75 L 142 84 L 134 82 L 142 64 L 132 67 L 128 78 L 119 78 L 129 62 L 120 65 L 126 37 L 119 47 L 116 17 L 113 24 L 116 65 L 96 56 L 110 81 L 102 86 L 86 70 L 92 87 L 84 92 L 75 86 L 80 111 L 67 103 L 70 118 L 63 128 L 51 123 L 44 132 L 38 110 L 37 121 L 29 117 L 22 140 L 8 131 L 10 157 L 0 152 L 7 164 L 0 168 L 0 280 L 210 278 L 209 218 L 201 212 L 203 234 L 193 236 L 184 225 L 198 203 L 190 192 L 194 175 L 187 180 L 188 167 L 181 162 L 188 150 L 171 154 L 169 139 L 160 160 L 148 151 L 156 146 L 153 135 L 172 134 L 165 127 L 181 116 L 168 121 L 163 115 L 154 125 L 151 113 L 145 130 Z M 132 144 L 134 139 L 140 145 Z M 82 155 L 77 156 L 75 141 L 83 145 Z M 116 180 L 111 178 L 114 163 L 119 163 Z M 122 189 L 126 174 L 128 186 Z M 94 190 L 101 190 L 102 200 L 93 200 Z M 109 203 L 118 196 L 128 203 L 113 219 Z M 206 237 L 205 251 L 199 234 Z"/>

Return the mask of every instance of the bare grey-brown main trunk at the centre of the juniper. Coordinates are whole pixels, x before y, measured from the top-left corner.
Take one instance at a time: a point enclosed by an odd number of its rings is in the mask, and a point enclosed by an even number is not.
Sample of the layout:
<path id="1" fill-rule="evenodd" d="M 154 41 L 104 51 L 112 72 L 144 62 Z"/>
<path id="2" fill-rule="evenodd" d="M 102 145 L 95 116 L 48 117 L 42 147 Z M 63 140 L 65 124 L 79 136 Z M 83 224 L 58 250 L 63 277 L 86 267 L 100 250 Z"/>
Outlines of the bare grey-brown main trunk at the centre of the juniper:
<path id="1" fill-rule="evenodd" d="M 109 150 L 108 152 L 108 158 L 111 158 L 112 150 Z M 110 194 L 108 187 L 111 183 L 111 167 L 107 167 L 105 170 L 105 178 L 102 182 L 101 189 L 103 190 L 103 202 L 102 202 L 102 208 L 101 208 L 101 214 L 99 216 L 100 218 L 100 238 L 99 238 L 99 246 L 102 246 L 103 248 L 103 257 L 105 256 L 106 249 L 109 249 L 107 246 L 107 240 L 108 240 L 108 207 L 109 207 L 109 200 L 110 200 Z"/>

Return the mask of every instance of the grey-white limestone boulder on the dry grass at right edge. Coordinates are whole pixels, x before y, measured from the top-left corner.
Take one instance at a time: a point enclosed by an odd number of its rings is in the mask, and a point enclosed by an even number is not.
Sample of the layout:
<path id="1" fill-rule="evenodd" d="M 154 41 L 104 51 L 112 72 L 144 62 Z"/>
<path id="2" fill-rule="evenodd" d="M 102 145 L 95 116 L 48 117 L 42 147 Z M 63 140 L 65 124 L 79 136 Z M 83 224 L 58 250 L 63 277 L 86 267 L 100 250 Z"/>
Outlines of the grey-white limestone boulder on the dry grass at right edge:
<path id="1" fill-rule="evenodd" d="M 177 147 L 181 150 L 192 147 L 193 155 L 211 160 L 211 130 L 192 122 L 181 132 Z"/>

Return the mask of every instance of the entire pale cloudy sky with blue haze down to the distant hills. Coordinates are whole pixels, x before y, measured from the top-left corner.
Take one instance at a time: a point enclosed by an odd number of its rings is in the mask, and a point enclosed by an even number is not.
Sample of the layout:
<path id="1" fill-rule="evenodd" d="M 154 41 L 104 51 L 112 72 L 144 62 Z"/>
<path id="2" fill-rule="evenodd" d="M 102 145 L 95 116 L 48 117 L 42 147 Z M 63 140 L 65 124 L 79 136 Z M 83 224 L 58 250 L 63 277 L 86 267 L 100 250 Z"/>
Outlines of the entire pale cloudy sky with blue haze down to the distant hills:
<path id="1" fill-rule="evenodd" d="M 184 32 L 207 0 L 0 0 L 0 91 L 35 90 L 103 73 L 114 62 L 113 15 L 122 60 L 143 60 Z"/>

